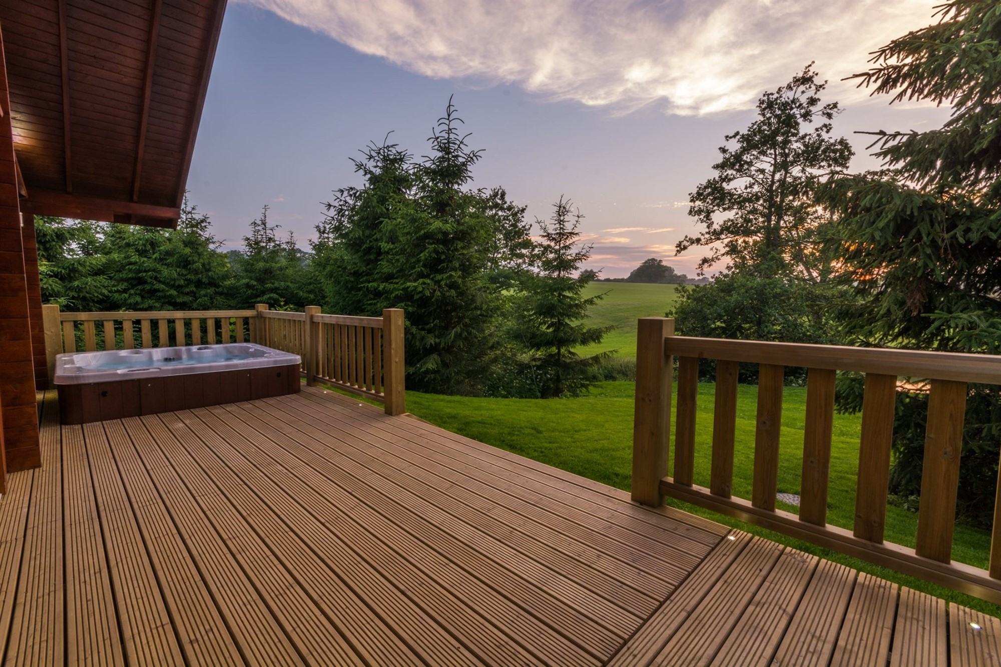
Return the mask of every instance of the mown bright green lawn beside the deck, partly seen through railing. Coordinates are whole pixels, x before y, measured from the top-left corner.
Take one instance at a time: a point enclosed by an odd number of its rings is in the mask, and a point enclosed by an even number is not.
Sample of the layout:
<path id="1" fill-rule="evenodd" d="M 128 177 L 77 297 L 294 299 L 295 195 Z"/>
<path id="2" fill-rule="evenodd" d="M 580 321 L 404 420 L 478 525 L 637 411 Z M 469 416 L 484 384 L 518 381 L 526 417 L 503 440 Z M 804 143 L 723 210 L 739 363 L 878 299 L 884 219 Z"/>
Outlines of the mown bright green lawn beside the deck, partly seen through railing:
<path id="1" fill-rule="evenodd" d="M 657 287 L 662 289 L 662 294 L 665 290 L 663 285 L 613 283 L 612 286 L 625 286 L 627 289 Z M 671 289 L 673 293 L 673 288 Z M 641 292 L 642 290 L 637 291 Z M 696 484 L 707 487 L 714 392 L 715 385 L 700 385 L 695 473 Z M 633 383 L 616 382 L 603 383 L 590 396 L 580 399 L 469 399 L 407 392 L 406 405 L 412 414 L 443 429 L 628 491 L 632 470 L 633 395 Z M 750 498 L 757 388 L 742 386 L 738 398 L 734 495 Z M 779 467 L 780 492 L 798 494 L 800 490 L 805 406 L 805 389 L 785 390 Z M 595 416 L 600 418 L 595 419 Z M 857 415 L 835 416 L 828 521 L 848 529 L 852 528 L 854 517 L 859 426 L 860 417 Z M 763 535 L 994 616 L 1001 616 L 1001 607 L 978 598 L 727 519 L 707 510 L 684 503 L 673 504 L 693 514 Z M 785 510 L 796 510 L 782 503 L 780 506 Z M 916 533 L 916 514 L 896 507 L 887 508 L 887 541 L 913 547 Z M 962 525 L 956 527 L 953 545 L 955 560 L 983 568 L 987 566 L 989 554 L 990 534 L 987 531 Z"/>

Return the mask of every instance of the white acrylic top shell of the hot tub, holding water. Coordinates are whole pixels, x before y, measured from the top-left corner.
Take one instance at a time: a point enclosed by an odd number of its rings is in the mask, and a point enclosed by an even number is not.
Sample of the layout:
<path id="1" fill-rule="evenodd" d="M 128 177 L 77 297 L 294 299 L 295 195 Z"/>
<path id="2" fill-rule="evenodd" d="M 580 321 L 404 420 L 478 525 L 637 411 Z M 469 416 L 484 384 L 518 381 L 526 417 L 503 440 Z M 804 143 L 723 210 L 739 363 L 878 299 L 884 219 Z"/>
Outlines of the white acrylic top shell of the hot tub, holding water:
<path id="1" fill-rule="evenodd" d="M 67 353 L 56 357 L 54 382 L 56 385 L 87 385 L 300 363 L 298 355 L 248 343 Z"/>

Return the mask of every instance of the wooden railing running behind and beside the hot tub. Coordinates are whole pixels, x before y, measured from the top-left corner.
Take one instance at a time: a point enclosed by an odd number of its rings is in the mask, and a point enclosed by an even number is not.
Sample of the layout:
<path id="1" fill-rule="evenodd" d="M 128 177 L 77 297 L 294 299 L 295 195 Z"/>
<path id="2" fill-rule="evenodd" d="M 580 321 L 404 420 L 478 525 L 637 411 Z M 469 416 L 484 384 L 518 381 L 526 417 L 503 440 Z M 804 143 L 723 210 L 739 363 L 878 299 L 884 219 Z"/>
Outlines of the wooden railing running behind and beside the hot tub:
<path id="1" fill-rule="evenodd" d="M 384 405 L 387 415 L 405 412 L 403 311 L 381 317 L 269 310 L 178 310 L 162 312 L 61 312 L 42 306 L 49 380 L 56 355 L 223 343 L 256 343 L 301 358 L 310 386 L 329 385 Z"/>

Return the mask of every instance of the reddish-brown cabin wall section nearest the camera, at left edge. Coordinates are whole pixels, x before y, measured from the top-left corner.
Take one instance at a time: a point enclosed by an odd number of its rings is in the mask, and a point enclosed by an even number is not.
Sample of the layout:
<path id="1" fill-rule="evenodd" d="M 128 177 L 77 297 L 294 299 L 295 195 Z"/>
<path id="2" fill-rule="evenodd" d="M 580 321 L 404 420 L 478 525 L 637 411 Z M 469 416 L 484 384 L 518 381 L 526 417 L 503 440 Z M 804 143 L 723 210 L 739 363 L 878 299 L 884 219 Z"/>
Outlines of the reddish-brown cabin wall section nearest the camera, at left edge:
<path id="1" fill-rule="evenodd" d="M 2 26 L 0 26 L 2 28 Z M 24 270 L 10 102 L 0 32 L 0 410 L 8 472 L 37 468 L 38 416 L 32 364 L 28 288 Z"/>

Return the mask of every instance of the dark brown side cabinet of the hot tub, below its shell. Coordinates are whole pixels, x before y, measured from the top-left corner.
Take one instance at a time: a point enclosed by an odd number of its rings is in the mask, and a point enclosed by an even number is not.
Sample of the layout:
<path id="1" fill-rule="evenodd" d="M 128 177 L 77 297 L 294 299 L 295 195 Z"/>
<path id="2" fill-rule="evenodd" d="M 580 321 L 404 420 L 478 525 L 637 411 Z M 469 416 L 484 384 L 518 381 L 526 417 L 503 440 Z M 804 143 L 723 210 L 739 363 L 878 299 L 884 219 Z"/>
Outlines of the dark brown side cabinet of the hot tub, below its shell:
<path id="1" fill-rule="evenodd" d="M 89 424 L 296 394 L 299 366 L 59 386 L 59 419 Z"/>

